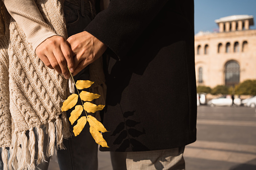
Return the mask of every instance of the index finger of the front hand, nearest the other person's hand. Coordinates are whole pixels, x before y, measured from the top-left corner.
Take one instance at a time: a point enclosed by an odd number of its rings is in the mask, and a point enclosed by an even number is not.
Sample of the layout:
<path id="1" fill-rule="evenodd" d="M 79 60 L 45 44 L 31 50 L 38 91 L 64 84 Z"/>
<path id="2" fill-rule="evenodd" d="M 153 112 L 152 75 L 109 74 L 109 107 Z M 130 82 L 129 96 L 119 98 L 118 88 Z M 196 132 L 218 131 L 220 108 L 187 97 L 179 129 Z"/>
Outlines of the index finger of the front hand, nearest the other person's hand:
<path id="1" fill-rule="evenodd" d="M 66 64 L 72 73 L 74 71 L 75 67 L 74 67 L 74 63 L 73 63 L 72 51 L 69 48 L 66 41 L 60 44 L 60 49 L 65 57 Z"/>

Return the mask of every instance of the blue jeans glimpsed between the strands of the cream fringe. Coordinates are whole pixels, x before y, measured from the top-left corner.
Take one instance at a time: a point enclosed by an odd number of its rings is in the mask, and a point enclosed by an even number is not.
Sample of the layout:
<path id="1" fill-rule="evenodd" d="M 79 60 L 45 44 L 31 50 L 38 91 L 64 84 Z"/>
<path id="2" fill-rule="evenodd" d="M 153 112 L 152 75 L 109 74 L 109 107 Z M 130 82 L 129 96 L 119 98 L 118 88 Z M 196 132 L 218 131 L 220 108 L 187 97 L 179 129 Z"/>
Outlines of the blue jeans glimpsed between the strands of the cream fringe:
<path id="1" fill-rule="evenodd" d="M 46 127 L 43 127 L 42 126 L 42 129 L 43 129 L 43 132 L 44 132 L 44 143 L 47 143 L 48 142 L 48 134 L 46 134 Z M 37 130 L 36 128 L 33 129 L 34 130 L 34 133 L 35 133 L 35 139 L 36 139 L 36 142 L 35 142 L 35 160 L 37 160 L 37 153 L 38 153 L 38 135 L 37 135 Z M 26 133 L 27 137 L 29 137 L 29 132 Z M 7 150 L 8 150 L 8 157 L 10 157 L 10 150 L 9 150 L 9 147 L 7 147 Z M 46 153 L 46 150 L 47 150 L 47 144 L 44 144 L 44 153 Z M 2 153 L 2 148 L 0 148 L 0 153 Z M 35 165 L 36 165 L 36 170 L 47 170 L 48 169 L 48 166 L 49 166 L 49 162 L 50 162 L 50 157 L 47 157 L 46 154 L 45 155 L 45 161 L 43 161 L 41 164 L 37 165 L 36 162 L 35 162 Z M 0 154 L 0 170 L 3 170 L 4 169 L 4 165 L 3 165 L 3 162 L 2 162 L 2 155 Z"/>

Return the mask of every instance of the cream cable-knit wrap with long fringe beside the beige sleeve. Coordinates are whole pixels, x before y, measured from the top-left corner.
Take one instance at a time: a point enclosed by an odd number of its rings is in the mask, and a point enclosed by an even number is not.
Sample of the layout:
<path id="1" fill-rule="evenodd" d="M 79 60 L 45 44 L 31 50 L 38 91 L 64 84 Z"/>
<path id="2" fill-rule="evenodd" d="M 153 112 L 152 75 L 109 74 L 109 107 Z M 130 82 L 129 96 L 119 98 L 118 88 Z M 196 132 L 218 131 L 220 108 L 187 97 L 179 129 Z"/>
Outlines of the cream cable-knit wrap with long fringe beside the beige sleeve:
<path id="1" fill-rule="evenodd" d="M 18 25 L 0 0 L 0 147 L 5 170 L 35 169 L 33 128 L 37 128 L 38 133 L 37 163 L 44 160 L 44 144 L 48 145 L 47 156 L 51 156 L 54 142 L 63 148 L 63 137 L 70 137 L 66 113 L 61 112 L 62 102 L 69 95 L 68 82 L 61 74 L 46 67 L 34 53 L 48 37 L 67 38 L 61 8 L 63 0 L 30 2 L 36 3 L 46 23 L 43 36 L 37 39 L 30 36 L 31 26 Z M 103 95 L 96 104 L 104 104 L 106 85 L 101 60 L 91 64 L 90 74 L 91 81 L 96 81 L 91 91 Z M 43 143 L 42 125 L 47 126 L 48 143 Z M 29 131 L 29 137 L 26 131 Z M 6 147 L 10 147 L 9 161 Z"/>

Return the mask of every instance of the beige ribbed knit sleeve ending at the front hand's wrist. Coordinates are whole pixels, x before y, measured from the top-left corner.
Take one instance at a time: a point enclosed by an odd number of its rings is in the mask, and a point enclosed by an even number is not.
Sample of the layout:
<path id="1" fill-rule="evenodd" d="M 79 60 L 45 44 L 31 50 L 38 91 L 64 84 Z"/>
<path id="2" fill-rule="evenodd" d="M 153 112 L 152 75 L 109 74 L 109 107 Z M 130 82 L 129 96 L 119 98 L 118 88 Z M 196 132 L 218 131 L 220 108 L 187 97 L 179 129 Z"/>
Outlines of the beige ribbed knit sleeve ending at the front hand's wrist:
<path id="1" fill-rule="evenodd" d="M 25 33 L 28 42 L 32 44 L 34 51 L 44 40 L 57 35 L 45 23 L 34 0 L 3 0 L 3 2 L 10 15 Z"/>

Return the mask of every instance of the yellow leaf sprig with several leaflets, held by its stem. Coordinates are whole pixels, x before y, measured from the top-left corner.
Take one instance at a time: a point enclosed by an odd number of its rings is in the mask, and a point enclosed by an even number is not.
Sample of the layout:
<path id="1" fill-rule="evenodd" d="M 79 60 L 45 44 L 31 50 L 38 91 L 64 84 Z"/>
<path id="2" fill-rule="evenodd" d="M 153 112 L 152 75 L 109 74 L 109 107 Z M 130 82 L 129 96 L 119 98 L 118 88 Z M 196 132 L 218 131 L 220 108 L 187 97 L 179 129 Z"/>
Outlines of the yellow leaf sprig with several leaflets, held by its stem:
<path id="1" fill-rule="evenodd" d="M 106 140 L 103 138 L 101 134 L 101 132 L 102 133 L 107 132 L 107 129 L 95 117 L 91 115 L 87 115 L 88 112 L 95 113 L 96 111 L 103 110 L 105 105 L 96 105 L 89 102 L 89 101 L 93 101 L 94 99 L 98 99 L 101 95 L 90 93 L 87 91 L 81 91 L 81 93 L 79 93 L 78 91 L 78 89 L 82 90 L 82 89 L 91 87 L 94 82 L 89 80 L 77 80 L 75 82 L 70 70 L 69 70 L 69 73 L 75 84 L 75 88 L 78 92 L 78 95 L 71 94 L 70 96 L 68 96 L 68 98 L 63 102 L 61 111 L 67 111 L 75 106 L 74 110 L 72 110 L 69 117 L 69 121 L 71 124 L 73 124 L 77 120 L 76 125 L 73 127 L 74 135 L 75 136 L 79 135 L 82 129 L 84 128 L 84 126 L 86 125 L 86 123 L 89 122 L 90 133 L 92 134 L 96 143 L 100 144 L 103 147 L 109 147 Z M 78 97 L 80 98 L 82 105 L 76 105 L 78 101 Z M 83 103 L 83 101 L 85 103 Z M 83 110 L 86 113 L 86 116 L 80 117 Z"/>

